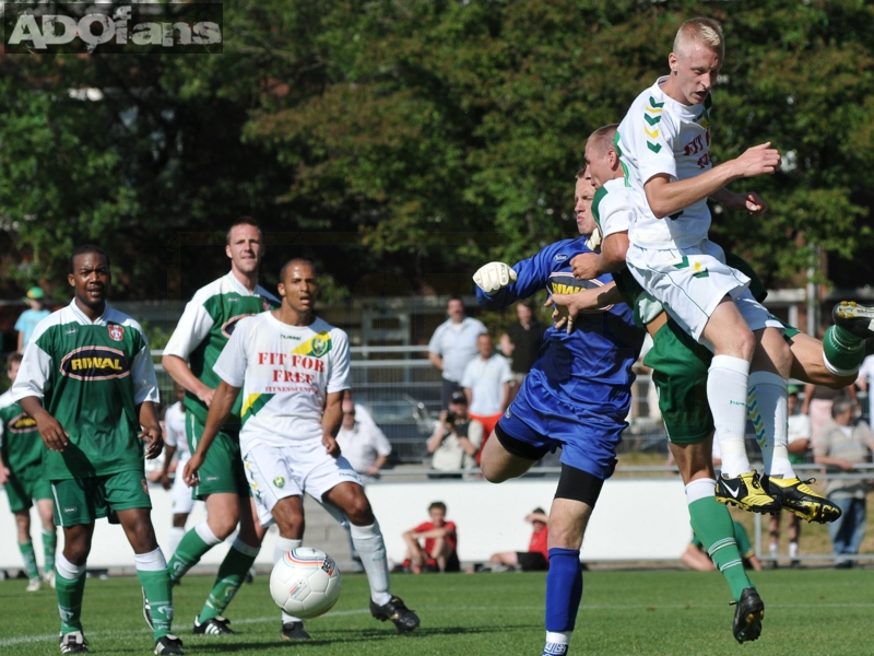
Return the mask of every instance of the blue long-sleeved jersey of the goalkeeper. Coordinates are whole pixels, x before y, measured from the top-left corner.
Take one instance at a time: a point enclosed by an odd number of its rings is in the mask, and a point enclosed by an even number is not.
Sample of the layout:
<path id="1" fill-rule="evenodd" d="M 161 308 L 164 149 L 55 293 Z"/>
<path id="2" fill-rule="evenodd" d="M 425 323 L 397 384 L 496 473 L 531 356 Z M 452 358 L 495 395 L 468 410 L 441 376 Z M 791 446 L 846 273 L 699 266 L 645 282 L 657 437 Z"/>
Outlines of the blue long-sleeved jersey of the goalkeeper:
<path id="1" fill-rule="evenodd" d="M 488 309 L 500 309 L 541 290 L 550 293 L 574 293 L 581 289 L 613 282 L 607 273 L 597 280 L 577 280 L 570 260 L 581 253 L 592 253 L 587 237 L 565 239 L 546 246 L 535 256 L 513 266 L 517 280 L 489 295 L 476 288 L 476 300 Z M 631 311 L 625 303 L 604 309 L 580 313 L 570 335 L 551 327 L 544 336 L 538 361 L 530 376 L 538 378 L 556 397 L 574 403 L 584 402 L 604 411 L 627 411 L 631 373 L 643 332 L 635 327 Z"/>

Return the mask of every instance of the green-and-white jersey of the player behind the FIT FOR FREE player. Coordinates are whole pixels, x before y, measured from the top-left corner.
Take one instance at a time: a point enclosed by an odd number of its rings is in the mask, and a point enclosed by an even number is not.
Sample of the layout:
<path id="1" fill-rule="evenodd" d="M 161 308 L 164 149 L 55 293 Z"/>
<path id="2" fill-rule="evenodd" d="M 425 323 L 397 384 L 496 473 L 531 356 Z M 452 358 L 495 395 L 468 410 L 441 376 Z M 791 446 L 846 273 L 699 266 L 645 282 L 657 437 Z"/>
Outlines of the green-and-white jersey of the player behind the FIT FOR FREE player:
<path id="1" fill-rule="evenodd" d="M 165 355 L 176 355 L 188 361 L 198 379 L 213 389 L 222 379 L 213 372 L 215 361 L 234 332 L 237 321 L 280 306 L 280 301 L 261 285 L 249 292 L 233 272 L 214 280 L 197 291 L 185 306 L 176 330 L 173 331 Z M 240 399 L 234 403 L 234 414 L 239 415 Z M 193 394 L 186 394 L 185 407 L 201 423 L 206 423 L 209 409 Z"/>

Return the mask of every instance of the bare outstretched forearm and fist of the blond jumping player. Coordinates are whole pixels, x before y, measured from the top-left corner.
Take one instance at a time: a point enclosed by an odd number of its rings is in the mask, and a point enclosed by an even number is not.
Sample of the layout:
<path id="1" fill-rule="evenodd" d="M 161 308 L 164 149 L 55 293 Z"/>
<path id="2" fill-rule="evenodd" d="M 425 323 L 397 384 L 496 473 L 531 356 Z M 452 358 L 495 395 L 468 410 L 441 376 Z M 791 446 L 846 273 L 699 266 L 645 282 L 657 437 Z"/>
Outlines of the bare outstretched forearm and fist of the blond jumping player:
<path id="1" fill-rule="evenodd" d="M 650 210 L 657 219 L 664 219 L 699 200 L 719 195 L 720 189 L 733 180 L 777 172 L 780 168 L 780 153 L 770 145 L 768 142 L 753 147 L 736 160 L 685 180 L 672 181 L 668 174 L 652 176 L 643 184 Z M 758 210 L 749 211 L 760 213 Z"/>

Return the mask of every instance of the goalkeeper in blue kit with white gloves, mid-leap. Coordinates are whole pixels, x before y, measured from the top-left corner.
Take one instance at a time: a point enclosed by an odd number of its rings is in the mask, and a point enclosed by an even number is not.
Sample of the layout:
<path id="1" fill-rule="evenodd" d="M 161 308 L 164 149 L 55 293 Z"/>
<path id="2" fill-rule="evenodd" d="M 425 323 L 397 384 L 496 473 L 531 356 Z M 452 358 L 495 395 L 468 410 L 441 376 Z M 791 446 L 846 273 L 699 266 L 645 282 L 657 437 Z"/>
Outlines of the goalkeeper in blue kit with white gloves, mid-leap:
<path id="1" fill-rule="evenodd" d="M 579 211 L 591 199 L 591 180 L 577 180 L 579 237 L 552 244 L 512 268 L 489 262 L 474 276 L 480 305 L 506 307 L 541 290 L 574 292 L 613 281 L 574 278 L 570 260 L 590 253 L 591 214 Z M 546 330 L 538 361 L 483 449 L 482 468 L 494 483 L 524 473 L 548 452 L 562 447 L 562 475 L 550 512 L 550 573 L 546 576 L 544 654 L 567 654 L 582 598 L 580 547 L 603 482 L 616 465 L 616 446 L 627 426 L 631 365 L 643 333 L 627 306 L 581 315 L 577 330 Z"/>

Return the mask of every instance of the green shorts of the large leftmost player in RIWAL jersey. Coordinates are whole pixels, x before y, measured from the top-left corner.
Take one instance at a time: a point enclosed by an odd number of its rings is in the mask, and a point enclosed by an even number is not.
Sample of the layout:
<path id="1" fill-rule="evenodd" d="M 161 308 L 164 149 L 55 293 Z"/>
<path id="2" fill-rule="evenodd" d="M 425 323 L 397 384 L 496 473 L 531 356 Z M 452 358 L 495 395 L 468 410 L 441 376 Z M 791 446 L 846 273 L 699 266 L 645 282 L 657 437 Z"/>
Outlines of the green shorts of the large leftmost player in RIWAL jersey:
<path id="1" fill-rule="evenodd" d="M 106 476 L 51 481 L 55 493 L 55 524 L 76 526 L 109 517 L 118 524 L 115 514 L 131 508 L 151 508 L 149 483 L 140 471 L 119 471 Z"/>

